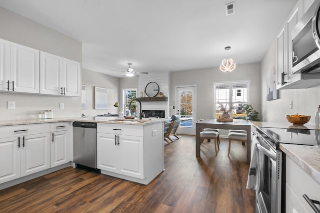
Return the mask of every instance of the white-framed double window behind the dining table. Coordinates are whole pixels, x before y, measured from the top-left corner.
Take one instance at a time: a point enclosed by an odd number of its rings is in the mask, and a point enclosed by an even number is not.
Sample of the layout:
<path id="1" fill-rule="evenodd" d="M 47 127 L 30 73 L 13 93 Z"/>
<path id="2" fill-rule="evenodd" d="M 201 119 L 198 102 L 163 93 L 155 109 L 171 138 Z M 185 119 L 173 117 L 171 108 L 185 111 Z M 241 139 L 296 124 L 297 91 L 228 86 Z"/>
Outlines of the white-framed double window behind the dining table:
<path id="1" fill-rule="evenodd" d="M 213 83 L 213 116 L 228 111 L 232 118 L 243 117 L 244 104 L 249 102 L 249 81 Z"/>

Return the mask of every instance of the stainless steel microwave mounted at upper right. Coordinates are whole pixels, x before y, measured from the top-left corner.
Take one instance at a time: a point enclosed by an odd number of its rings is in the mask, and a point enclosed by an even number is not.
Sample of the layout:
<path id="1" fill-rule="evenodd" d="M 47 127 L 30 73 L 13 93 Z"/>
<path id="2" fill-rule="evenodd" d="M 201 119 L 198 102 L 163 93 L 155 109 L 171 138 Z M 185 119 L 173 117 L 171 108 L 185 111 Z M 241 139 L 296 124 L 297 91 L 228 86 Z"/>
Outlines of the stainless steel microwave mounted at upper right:
<path id="1" fill-rule="evenodd" d="M 320 0 L 315 0 L 291 31 L 292 73 L 320 72 Z"/>

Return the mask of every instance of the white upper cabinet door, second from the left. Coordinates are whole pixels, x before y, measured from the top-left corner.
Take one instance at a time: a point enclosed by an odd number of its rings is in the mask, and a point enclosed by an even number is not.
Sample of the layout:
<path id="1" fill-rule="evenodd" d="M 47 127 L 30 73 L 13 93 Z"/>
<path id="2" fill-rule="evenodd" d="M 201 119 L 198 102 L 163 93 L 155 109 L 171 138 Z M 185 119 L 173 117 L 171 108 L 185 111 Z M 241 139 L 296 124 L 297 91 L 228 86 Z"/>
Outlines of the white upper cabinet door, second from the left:
<path id="1" fill-rule="evenodd" d="M 16 92 L 39 93 L 39 60 L 37 49 L 10 44 L 10 77 Z"/>

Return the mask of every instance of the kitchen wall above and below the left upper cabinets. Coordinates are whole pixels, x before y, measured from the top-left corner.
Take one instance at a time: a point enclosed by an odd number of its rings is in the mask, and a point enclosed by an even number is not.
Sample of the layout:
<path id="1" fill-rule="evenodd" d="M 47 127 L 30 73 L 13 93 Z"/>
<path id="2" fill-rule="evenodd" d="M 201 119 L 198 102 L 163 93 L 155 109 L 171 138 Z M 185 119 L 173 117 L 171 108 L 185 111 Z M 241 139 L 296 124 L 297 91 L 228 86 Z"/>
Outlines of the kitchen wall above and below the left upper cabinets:
<path id="1" fill-rule="evenodd" d="M 81 62 L 82 44 L 42 24 L 0 7 L 0 38 Z M 15 101 L 15 109 L 6 109 Z M 59 109 L 64 103 L 64 109 Z M 37 112 L 52 109 L 53 117 L 81 115 L 79 97 L 60 97 L 0 92 L 0 120 L 33 119 Z"/>

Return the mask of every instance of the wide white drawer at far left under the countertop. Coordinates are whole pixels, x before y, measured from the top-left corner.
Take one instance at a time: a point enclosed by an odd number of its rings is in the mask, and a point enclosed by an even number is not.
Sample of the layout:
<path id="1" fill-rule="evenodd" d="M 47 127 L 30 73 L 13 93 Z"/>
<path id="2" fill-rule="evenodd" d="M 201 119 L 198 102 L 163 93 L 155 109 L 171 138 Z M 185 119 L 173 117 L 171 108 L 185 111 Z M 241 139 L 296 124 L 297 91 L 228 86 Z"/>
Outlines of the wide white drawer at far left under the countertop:
<path id="1" fill-rule="evenodd" d="M 0 127 L 0 138 L 50 132 L 50 124 L 26 124 Z"/>

